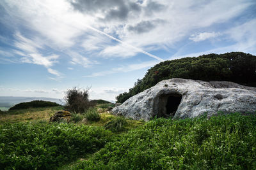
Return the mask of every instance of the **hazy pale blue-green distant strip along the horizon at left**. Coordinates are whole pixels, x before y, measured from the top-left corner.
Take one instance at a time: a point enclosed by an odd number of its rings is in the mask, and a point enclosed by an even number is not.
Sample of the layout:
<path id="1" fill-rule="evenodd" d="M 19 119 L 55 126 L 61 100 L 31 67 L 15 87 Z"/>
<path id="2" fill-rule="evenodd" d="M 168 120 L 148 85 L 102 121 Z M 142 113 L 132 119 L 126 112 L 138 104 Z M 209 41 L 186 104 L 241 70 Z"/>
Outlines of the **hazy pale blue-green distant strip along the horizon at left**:
<path id="1" fill-rule="evenodd" d="M 7 111 L 15 104 L 22 102 L 29 102 L 35 100 L 51 101 L 63 105 L 63 99 L 55 99 L 49 97 L 13 97 L 13 96 L 0 96 L 0 110 Z"/>

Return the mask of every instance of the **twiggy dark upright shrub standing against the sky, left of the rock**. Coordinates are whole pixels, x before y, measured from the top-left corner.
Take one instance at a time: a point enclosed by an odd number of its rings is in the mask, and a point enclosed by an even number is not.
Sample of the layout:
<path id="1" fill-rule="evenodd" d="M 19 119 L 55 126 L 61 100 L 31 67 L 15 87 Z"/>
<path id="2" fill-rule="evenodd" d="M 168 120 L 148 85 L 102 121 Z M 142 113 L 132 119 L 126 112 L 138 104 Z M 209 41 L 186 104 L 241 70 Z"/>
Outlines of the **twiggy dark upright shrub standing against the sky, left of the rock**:
<path id="1" fill-rule="evenodd" d="M 84 113 L 88 108 L 93 106 L 93 103 L 89 101 L 89 91 L 90 89 L 81 90 L 74 87 L 73 89 L 68 89 L 64 100 L 65 110 L 76 113 Z"/>

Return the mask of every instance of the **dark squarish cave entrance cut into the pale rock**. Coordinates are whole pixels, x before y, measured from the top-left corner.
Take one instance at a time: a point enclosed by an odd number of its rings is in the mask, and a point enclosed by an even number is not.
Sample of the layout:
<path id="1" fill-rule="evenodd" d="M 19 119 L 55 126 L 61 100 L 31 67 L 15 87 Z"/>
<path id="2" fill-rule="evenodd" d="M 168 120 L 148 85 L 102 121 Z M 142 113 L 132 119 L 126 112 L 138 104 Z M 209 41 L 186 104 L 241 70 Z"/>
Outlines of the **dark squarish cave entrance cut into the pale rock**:
<path id="1" fill-rule="evenodd" d="M 164 94 L 159 96 L 158 117 L 173 117 L 179 107 L 182 95 L 180 94 Z"/>

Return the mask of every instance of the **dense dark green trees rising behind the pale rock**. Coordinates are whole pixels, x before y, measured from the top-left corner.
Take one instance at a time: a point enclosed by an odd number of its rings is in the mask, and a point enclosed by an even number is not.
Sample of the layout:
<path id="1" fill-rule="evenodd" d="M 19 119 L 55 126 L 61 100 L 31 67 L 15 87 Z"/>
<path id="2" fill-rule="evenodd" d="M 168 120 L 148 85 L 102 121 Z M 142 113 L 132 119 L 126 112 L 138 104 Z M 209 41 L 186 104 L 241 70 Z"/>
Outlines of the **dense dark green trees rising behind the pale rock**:
<path id="1" fill-rule="evenodd" d="M 186 78 L 193 80 L 225 80 L 256 87 L 256 56 L 243 52 L 224 54 L 211 53 L 199 57 L 166 60 L 148 69 L 142 80 L 134 83 L 129 92 L 116 97 L 117 103 L 124 103 L 143 90 L 161 80 Z"/>

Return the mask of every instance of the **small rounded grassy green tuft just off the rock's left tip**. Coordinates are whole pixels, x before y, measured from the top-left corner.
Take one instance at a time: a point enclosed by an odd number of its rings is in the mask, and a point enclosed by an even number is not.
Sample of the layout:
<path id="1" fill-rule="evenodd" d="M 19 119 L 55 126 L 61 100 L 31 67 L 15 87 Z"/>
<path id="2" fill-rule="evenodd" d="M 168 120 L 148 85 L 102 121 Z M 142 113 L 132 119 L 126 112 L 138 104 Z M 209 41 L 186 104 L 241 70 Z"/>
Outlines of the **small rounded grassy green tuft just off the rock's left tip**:
<path id="1" fill-rule="evenodd" d="M 124 130 L 124 126 L 127 125 L 127 121 L 124 117 L 115 117 L 107 122 L 104 127 L 113 132 Z"/>

